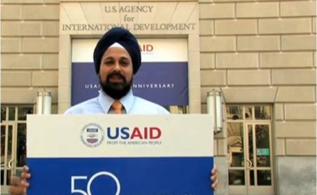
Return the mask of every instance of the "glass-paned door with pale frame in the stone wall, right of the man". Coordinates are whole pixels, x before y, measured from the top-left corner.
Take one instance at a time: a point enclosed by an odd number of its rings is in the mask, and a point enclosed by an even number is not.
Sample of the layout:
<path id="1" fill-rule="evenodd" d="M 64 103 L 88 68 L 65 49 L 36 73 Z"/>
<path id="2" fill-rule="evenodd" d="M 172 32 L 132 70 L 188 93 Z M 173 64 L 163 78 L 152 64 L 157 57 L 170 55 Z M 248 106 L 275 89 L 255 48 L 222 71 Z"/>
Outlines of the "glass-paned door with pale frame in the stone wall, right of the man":
<path id="1" fill-rule="evenodd" d="M 230 195 L 274 194 L 270 107 L 228 105 Z"/>

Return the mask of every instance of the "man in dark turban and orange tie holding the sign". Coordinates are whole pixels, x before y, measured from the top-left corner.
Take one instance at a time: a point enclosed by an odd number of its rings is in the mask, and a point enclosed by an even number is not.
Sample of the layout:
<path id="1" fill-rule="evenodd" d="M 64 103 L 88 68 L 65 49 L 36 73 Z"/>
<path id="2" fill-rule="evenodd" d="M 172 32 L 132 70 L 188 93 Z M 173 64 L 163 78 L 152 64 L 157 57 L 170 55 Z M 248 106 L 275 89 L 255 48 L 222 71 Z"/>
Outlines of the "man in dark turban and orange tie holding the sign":
<path id="1" fill-rule="evenodd" d="M 93 61 L 102 88 L 99 96 L 71 107 L 65 114 L 169 114 L 161 105 L 132 93 L 133 76 L 141 66 L 141 51 L 137 39 L 130 31 L 119 27 L 110 29 L 97 42 Z M 30 177 L 29 168 L 25 166 L 21 181 L 12 181 L 11 194 L 25 194 L 30 185 L 26 179 Z M 211 187 L 216 190 L 216 167 L 211 171 L 211 180 Z"/>

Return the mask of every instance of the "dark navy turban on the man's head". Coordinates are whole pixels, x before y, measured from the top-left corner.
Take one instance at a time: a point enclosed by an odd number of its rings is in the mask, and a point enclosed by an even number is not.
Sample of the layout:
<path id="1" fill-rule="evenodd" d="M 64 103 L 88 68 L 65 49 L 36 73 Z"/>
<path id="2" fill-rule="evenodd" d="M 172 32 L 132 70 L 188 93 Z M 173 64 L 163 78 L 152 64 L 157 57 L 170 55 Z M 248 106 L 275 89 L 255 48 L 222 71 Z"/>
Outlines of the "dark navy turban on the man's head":
<path id="1" fill-rule="evenodd" d="M 130 31 L 121 27 L 110 29 L 102 38 L 99 39 L 93 51 L 93 62 L 95 64 L 96 73 L 99 74 L 100 62 L 104 52 L 115 42 L 121 44 L 128 51 L 133 66 L 133 74 L 137 73 L 141 66 L 141 51 L 137 38 Z"/>

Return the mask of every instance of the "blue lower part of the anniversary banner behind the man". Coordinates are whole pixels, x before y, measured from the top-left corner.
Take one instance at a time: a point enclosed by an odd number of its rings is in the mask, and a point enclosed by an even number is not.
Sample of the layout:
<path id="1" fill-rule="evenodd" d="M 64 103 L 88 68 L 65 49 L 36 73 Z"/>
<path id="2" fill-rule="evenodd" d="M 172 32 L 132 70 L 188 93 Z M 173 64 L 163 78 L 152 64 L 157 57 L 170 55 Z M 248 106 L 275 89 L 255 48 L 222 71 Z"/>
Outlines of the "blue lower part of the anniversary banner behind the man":
<path id="1" fill-rule="evenodd" d="M 92 62 L 73 62 L 71 75 L 71 105 L 98 96 L 99 79 Z M 132 89 L 135 96 L 159 105 L 188 105 L 188 64 L 143 62 Z"/>

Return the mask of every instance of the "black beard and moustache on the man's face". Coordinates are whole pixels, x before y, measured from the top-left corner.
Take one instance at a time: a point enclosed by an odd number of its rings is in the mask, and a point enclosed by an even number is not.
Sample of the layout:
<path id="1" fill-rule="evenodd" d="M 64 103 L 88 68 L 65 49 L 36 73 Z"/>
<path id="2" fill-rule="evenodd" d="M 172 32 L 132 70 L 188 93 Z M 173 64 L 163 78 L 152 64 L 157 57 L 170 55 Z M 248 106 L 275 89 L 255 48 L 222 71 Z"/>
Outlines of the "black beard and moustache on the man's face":
<path id="1" fill-rule="evenodd" d="M 122 83 L 111 83 L 110 78 L 113 76 L 120 77 L 123 82 Z M 124 77 L 124 75 L 121 75 L 121 73 L 114 71 L 113 73 L 110 73 L 106 77 L 105 82 L 102 82 L 102 79 L 99 76 L 99 83 L 100 83 L 100 86 L 102 87 L 102 90 L 106 94 L 108 94 L 108 96 L 112 97 L 113 99 L 119 100 L 123 96 L 128 94 L 128 92 L 130 91 L 132 79 L 130 82 L 128 82 L 128 81 L 126 81 L 126 77 Z"/>

